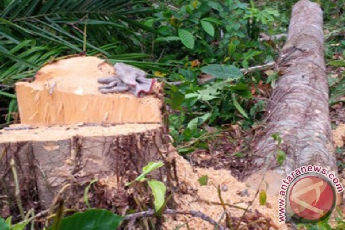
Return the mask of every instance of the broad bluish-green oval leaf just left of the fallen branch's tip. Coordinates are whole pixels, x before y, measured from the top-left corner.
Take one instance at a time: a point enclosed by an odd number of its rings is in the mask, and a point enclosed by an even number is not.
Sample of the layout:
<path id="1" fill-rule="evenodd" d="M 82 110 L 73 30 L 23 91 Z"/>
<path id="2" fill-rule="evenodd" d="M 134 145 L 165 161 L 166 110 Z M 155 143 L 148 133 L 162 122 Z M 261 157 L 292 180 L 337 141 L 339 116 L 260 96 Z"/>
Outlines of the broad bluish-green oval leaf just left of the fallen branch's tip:
<path id="1" fill-rule="evenodd" d="M 243 73 L 236 66 L 225 66 L 219 64 L 210 64 L 200 69 L 202 72 L 211 74 L 216 78 L 239 78 Z"/>

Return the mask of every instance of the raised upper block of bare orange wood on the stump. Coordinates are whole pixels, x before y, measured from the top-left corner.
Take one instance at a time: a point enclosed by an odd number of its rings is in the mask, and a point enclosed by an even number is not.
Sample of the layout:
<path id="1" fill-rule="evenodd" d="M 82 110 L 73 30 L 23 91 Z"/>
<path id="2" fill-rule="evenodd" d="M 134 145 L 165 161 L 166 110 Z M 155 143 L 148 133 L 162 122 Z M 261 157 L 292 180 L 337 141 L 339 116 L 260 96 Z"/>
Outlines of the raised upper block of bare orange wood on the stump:
<path id="1" fill-rule="evenodd" d="M 47 64 L 33 82 L 16 83 L 21 123 L 162 122 L 159 93 L 143 98 L 129 92 L 100 93 L 97 79 L 112 75 L 112 65 L 97 57 L 73 57 Z M 154 88 L 159 91 L 160 84 Z"/>

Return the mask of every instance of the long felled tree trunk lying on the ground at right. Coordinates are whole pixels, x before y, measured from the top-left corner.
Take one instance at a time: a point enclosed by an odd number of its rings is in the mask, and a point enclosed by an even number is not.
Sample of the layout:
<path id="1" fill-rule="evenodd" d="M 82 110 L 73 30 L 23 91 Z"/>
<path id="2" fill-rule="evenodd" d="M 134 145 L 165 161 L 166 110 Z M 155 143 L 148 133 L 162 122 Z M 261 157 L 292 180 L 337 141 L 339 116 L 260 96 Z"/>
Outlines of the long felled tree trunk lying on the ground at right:
<path id="1" fill-rule="evenodd" d="M 277 60 L 283 76 L 273 90 L 266 109 L 264 134 L 256 148 L 256 162 L 261 168 L 266 162 L 270 169 L 274 169 L 272 173 L 282 178 L 292 170 L 309 164 L 337 171 L 329 119 L 323 39 L 319 5 L 308 0 L 297 2 L 292 11 L 287 42 Z M 280 148 L 286 153 L 286 160 L 282 167 L 277 164 L 277 144 L 272 138 L 274 133 L 283 139 Z M 274 179 L 278 185 L 281 183 L 278 176 L 268 177 L 268 180 Z M 276 187 L 278 191 L 279 186 Z"/>

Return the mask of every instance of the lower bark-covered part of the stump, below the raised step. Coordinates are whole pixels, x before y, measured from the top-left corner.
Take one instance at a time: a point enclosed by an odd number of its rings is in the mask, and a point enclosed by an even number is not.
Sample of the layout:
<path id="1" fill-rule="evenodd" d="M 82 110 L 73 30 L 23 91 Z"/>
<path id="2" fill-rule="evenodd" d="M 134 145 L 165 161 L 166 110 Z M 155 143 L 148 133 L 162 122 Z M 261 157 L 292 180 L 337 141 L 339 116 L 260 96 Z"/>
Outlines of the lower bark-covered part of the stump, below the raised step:
<path id="1" fill-rule="evenodd" d="M 0 213 L 5 204 L 11 214 L 17 210 L 12 159 L 24 210 L 40 210 L 49 208 L 63 187 L 63 193 L 68 194 L 65 204 L 80 205 L 85 186 L 94 178 L 116 178 L 123 190 L 124 183 L 134 180 L 148 162 L 162 160 L 167 148 L 161 124 L 1 130 Z M 155 177 L 161 180 L 160 175 Z M 99 201 L 104 199 L 108 198 L 100 197 Z"/>

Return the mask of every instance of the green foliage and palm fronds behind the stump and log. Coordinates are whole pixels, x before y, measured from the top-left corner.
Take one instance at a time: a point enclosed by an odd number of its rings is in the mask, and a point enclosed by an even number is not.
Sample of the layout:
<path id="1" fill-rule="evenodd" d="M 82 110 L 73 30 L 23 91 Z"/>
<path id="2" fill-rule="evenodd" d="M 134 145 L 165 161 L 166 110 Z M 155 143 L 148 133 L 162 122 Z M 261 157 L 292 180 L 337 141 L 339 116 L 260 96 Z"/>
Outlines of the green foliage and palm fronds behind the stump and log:
<path id="1" fill-rule="evenodd" d="M 258 84 L 274 86 L 277 73 L 240 68 L 274 60 L 284 41 L 260 41 L 259 34 L 286 33 L 296 1 L 239 0 L 4 0 L 0 2 L 0 113 L 2 126 L 18 110 L 13 84 L 32 77 L 57 57 L 85 51 L 111 62 L 122 61 L 148 71 L 166 84 L 170 132 L 175 145 L 200 138 L 205 124 L 240 122 L 253 127 L 265 100 Z M 344 0 L 321 1 L 327 61 L 344 66 Z M 337 54 L 338 56 L 334 56 Z M 344 55 L 343 55 L 344 56 Z M 215 80 L 198 84 L 200 74 Z M 169 84 L 169 82 L 182 82 Z M 342 100 L 344 77 L 330 77 L 331 104 Z M 179 148 L 188 153 L 193 148 Z"/>

